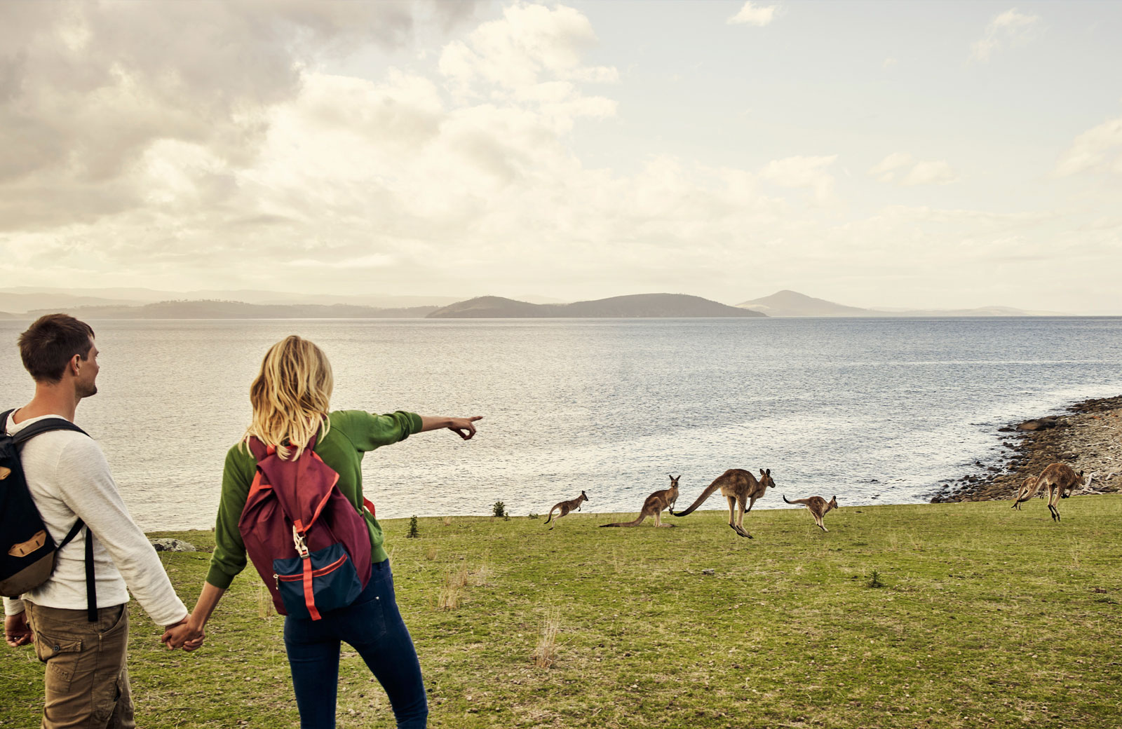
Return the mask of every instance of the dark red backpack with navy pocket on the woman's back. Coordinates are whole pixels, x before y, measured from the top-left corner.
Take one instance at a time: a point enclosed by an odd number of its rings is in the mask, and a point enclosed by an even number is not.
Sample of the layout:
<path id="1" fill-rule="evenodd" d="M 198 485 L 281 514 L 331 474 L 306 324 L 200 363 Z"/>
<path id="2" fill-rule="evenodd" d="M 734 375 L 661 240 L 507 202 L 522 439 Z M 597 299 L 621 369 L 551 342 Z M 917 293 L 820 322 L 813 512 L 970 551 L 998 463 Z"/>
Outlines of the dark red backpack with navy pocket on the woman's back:
<path id="1" fill-rule="evenodd" d="M 346 607 L 370 580 L 366 518 L 335 485 L 339 474 L 312 451 L 282 460 L 249 439 L 257 474 L 238 530 L 280 615 L 319 620 Z M 374 505 L 366 501 L 374 514 Z"/>

